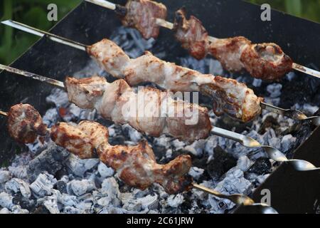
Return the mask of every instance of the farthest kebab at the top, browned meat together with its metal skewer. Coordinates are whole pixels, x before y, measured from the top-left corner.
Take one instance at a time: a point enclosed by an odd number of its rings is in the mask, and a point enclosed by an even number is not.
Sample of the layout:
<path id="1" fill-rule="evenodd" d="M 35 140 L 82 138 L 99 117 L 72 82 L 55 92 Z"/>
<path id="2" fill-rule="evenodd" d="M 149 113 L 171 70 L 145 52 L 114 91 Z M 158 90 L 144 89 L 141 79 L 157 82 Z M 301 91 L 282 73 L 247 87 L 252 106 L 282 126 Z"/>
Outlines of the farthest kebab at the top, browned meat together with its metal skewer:
<path id="1" fill-rule="evenodd" d="M 104 0 L 85 0 L 112 9 L 121 17 L 124 26 L 136 28 L 144 38 L 157 38 L 159 27 L 173 29 L 176 39 L 191 56 L 202 59 L 214 56 L 227 71 L 247 71 L 255 78 L 274 81 L 286 73 L 300 71 L 316 78 L 320 72 L 293 63 L 275 43 L 252 43 L 243 36 L 215 38 L 208 36 L 206 28 L 195 16 L 186 19 L 186 11 L 176 11 L 174 24 L 166 21 L 166 6 L 151 0 L 128 0 L 125 6 Z"/>

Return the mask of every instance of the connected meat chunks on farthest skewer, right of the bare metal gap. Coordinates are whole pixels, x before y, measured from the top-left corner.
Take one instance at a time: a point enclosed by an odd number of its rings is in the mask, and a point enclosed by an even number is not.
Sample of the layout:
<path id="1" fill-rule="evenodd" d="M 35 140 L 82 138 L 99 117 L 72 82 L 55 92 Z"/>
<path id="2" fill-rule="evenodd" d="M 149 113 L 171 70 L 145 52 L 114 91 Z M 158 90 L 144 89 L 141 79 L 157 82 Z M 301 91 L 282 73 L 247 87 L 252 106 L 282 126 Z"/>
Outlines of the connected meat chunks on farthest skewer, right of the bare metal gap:
<path id="1" fill-rule="evenodd" d="M 174 31 L 191 56 L 202 59 L 211 54 L 228 71 L 246 70 L 255 78 L 272 81 L 292 70 L 292 59 L 275 43 L 255 44 L 243 36 L 210 41 L 199 19 L 186 19 L 185 9 L 176 11 Z"/>

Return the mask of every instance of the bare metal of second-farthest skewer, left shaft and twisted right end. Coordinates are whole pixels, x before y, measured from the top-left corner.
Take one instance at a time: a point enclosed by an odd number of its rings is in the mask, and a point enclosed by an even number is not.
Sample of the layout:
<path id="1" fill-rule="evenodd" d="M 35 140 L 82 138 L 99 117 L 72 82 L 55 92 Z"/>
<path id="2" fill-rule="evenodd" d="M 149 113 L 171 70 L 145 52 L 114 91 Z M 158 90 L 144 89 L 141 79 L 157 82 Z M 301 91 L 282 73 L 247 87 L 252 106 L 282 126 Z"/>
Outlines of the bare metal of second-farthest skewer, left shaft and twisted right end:
<path id="1" fill-rule="evenodd" d="M 103 1 L 103 0 L 100 0 L 100 1 Z M 78 48 L 81 51 L 86 51 L 87 50 L 87 45 L 85 45 L 85 44 L 78 43 L 76 41 L 72 41 L 72 40 L 70 40 L 68 38 L 57 36 L 57 35 L 55 35 L 53 33 L 48 33 L 46 31 L 41 31 L 38 28 L 33 28 L 31 26 L 27 26 L 26 24 L 22 24 L 22 23 L 19 23 L 17 21 L 7 20 L 7 21 L 1 21 L 1 23 L 5 24 L 7 26 L 11 26 L 13 28 L 18 28 L 21 31 L 26 31 L 28 33 L 35 34 L 37 36 L 41 36 L 41 37 L 47 36 L 52 41 L 56 41 L 58 43 L 63 43 L 64 45 L 67 45 L 67 46 Z M 266 109 L 266 110 L 269 110 L 269 111 L 273 112 L 273 113 L 285 115 L 285 116 L 287 116 L 289 118 L 292 118 L 294 120 L 311 120 L 312 123 L 314 123 L 314 125 L 317 125 L 317 126 L 320 125 L 320 117 L 319 116 L 307 117 L 306 115 L 304 115 L 299 110 L 285 110 L 283 108 L 279 108 L 277 106 L 270 105 L 270 104 L 267 104 L 267 103 L 260 103 L 260 106 L 262 108 Z"/>

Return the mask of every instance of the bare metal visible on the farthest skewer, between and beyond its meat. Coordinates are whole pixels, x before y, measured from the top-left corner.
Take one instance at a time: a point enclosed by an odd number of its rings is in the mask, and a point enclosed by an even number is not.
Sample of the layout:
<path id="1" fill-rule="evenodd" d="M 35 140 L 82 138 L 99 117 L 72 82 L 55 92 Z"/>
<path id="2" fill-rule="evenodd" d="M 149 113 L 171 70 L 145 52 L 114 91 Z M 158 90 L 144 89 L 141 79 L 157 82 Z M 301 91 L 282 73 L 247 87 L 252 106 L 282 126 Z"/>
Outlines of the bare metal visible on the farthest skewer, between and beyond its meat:
<path id="1" fill-rule="evenodd" d="M 116 10 L 118 9 L 119 7 L 124 7 L 124 6 L 119 6 L 118 4 L 113 4 L 112 2 L 110 1 L 105 1 L 105 0 L 85 0 L 87 2 L 90 2 L 92 4 L 96 4 L 98 6 L 102 6 L 102 7 L 105 7 L 107 9 L 111 9 L 111 10 Z M 156 24 L 158 26 L 161 26 L 161 27 L 164 27 L 164 28 L 169 28 L 170 30 L 172 30 L 174 28 L 174 24 L 169 22 L 169 21 L 166 21 L 164 19 L 156 19 Z M 218 38 L 215 38 L 213 36 L 208 36 L 208 39 L 210 42 L 215 42 L 218 40 Z M 298 63 L 293 63 L 292 64 L 292 69 L 296 70 L 296 71 L 300 71 L 302 73 L 306 73 L 310 76 L 314 76 L 316 78 L 320 78 L 320 72 L 319 71 L 315 71 L 311 68 L 307 68 L 305 66 L 302 66 Z"/>

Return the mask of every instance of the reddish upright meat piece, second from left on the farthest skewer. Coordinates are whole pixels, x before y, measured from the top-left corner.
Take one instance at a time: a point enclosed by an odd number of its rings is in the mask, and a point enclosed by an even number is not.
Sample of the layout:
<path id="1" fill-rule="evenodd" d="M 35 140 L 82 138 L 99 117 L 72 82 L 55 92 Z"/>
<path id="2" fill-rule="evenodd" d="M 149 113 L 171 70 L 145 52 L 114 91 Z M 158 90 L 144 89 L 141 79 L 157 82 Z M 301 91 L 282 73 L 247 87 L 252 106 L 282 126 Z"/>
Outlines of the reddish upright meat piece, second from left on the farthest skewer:
<path id="1" fill-rule="evenodd" d="M 186 19 L 185 9 L 176 11 L 174 32 L 176 39 L 181 42 L 183 48 L 189 51 L 191 56 L 198 60 L 206 57 L 208 32 L 195 16 Z"/>

